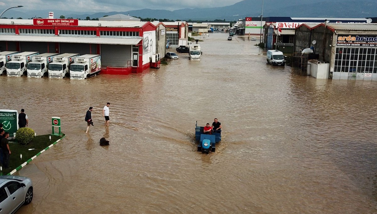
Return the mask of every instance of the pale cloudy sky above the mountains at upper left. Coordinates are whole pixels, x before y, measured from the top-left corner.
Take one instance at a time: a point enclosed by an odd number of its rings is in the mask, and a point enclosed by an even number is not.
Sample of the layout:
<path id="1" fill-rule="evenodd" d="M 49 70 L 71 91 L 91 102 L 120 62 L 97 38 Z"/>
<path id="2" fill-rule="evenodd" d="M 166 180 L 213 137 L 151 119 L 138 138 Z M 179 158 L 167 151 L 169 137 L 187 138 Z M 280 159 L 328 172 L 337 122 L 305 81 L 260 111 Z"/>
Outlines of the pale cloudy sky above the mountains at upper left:
<path id="1" fill-rule="evenodd" d="M 212 8 L 233 5 L 241 0 L 0 0 L 0 11 L 23 5 L 25 10 L 66 10 L 82 12 L 129 11 L 136 9 Z M 22 11 L 21 8 L 17 10 Z"/>

